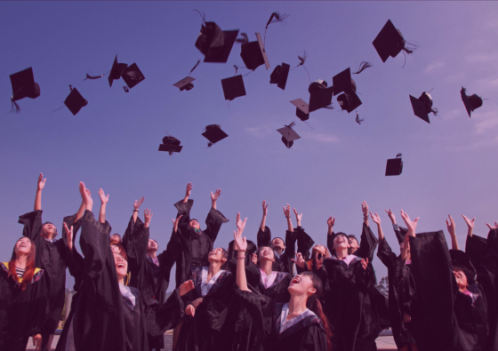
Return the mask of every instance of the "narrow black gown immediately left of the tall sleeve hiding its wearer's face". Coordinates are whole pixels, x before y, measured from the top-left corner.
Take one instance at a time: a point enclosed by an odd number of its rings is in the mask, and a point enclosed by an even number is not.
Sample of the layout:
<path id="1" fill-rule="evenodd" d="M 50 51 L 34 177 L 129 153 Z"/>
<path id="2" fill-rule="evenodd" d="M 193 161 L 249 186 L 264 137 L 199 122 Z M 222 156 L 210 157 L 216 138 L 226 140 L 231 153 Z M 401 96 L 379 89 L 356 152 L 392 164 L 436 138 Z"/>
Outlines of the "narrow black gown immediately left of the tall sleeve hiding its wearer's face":
<path id="1" fill-rule="evenodd" d="M 377 256 L 388 268 L 390 325 L 396 346 L 400 349 L 408 344 L 416 345 L 414 329 L 418 322 L 418 296 L 411 265 L 407 265 L 400 256 L 391 251 L 385 238 L 379 244 Z M 410 323 L 403 323 L 405 313 L 412 317 Z"/>

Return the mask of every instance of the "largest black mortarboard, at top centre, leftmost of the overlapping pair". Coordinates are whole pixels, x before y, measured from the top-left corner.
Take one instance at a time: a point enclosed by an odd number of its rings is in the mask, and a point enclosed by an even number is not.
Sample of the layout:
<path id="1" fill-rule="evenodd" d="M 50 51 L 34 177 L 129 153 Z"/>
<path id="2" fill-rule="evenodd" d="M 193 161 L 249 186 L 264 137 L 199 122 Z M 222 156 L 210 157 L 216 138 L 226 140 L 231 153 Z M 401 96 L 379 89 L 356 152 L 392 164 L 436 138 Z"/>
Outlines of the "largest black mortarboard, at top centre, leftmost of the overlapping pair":
<path id="1" fill-rule="evenodd" d="M 237 35 L 238 29 L 223 31 L 216 23 L 205 22 L 197 36 L 196 47 L 204 53 L 205 62 L 225 63 L 229 60 Z"/>

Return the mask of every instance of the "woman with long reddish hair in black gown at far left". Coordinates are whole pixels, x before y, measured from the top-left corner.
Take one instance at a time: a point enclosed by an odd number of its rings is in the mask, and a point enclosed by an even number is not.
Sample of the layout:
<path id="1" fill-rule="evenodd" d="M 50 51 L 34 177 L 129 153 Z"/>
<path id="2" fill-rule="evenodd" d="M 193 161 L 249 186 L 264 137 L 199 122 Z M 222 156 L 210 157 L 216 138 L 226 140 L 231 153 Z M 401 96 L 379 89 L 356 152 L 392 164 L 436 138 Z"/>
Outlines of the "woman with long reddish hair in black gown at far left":
<path id="1" fill-rule="evenodd" d="M 8 262 L 0 262 L 0 350 L 22 351 L 33 337 L 42 346 L 46 306 L 44 271 L 35 264 L 36 244 L 21 237 Z"/>

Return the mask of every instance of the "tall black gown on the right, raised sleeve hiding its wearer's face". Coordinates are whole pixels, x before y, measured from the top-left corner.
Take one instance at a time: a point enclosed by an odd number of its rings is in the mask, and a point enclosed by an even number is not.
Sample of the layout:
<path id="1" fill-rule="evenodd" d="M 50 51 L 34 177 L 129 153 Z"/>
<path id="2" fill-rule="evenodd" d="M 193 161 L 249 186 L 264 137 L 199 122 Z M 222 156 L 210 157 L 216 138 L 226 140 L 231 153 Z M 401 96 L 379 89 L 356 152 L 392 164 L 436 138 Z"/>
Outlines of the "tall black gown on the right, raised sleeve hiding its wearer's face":
<path id="1" fill-rule="evenodd" d="M 438 232 L 410 236 L 412 272 L 419 295 L 421 350 L 463 350 L 463 341 L 454 315 L 458 287 L 445 235 Z"/>

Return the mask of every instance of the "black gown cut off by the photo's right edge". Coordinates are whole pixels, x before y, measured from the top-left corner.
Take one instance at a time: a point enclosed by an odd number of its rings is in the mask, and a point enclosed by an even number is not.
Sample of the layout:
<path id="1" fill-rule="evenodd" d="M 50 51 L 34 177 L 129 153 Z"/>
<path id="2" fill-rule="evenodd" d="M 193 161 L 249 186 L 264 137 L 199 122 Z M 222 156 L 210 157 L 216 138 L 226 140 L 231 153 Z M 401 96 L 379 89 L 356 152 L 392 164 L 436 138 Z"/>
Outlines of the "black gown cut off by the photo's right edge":
<path id="1" fill-rule="evenodd" d="M 467 236 L 465 253 L 478 273 L 478 283 L 487 303 L 489 335 L 486 350 L 498 349 L 498 231 L 492 229 L 487 239 L 478 235 Z"/>

